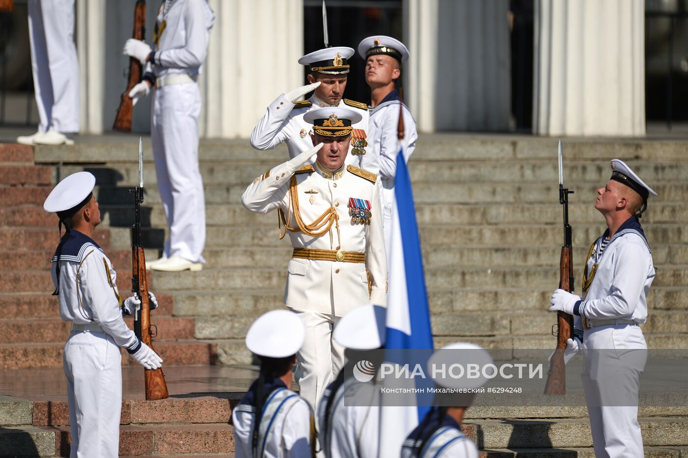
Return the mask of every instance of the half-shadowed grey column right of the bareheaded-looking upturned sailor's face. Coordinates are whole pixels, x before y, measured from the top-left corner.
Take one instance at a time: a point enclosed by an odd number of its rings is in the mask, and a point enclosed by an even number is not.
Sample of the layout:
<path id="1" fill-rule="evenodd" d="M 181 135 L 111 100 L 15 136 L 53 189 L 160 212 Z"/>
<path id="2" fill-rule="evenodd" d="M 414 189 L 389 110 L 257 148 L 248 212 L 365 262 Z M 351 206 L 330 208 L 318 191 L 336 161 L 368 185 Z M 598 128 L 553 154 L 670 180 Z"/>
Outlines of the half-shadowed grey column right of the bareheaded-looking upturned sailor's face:
<path id="1" fill-rule="evenodd" d="M 404 83 L 418 130 L 508 130 L 508 1 L 405 0 L 404 16 Z"/>

